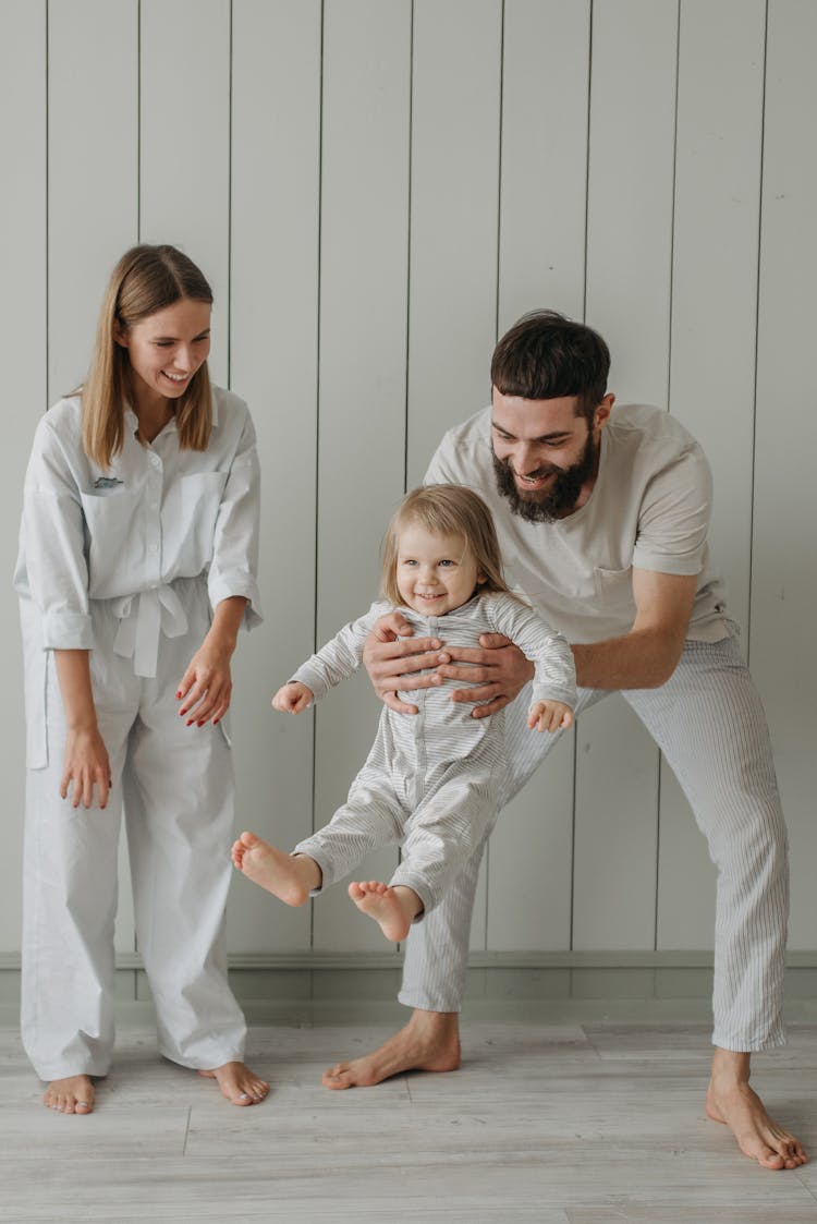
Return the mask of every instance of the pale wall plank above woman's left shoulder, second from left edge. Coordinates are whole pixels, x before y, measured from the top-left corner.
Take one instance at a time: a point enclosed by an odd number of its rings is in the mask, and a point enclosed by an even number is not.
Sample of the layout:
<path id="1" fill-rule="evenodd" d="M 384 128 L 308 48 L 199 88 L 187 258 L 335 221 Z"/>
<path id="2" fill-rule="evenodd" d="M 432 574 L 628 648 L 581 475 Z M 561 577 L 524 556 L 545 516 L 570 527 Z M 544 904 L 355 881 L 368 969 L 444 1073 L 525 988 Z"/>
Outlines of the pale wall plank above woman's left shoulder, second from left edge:
<path id="1" fill-rule="evenodd" d="M 51 0 L 48 11 L 48 351 L 54 401 L 82 381 L 108 278 L 137 241 L 138 56 L 136 0 Z M 132 951 L 133 938 L 122 836 L 116 946 Z"/>

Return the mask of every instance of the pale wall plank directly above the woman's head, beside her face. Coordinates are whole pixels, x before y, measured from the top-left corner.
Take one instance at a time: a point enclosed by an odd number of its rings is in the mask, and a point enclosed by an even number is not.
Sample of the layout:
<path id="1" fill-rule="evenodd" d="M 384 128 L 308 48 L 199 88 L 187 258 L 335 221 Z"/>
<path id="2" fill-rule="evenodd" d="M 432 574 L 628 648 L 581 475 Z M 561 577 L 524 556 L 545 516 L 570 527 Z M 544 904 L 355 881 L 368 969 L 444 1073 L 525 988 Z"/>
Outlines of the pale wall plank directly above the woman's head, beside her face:
<path id="1" fill-rule="evenodd" d="M 227 381 L 230 0 L 141 0 L 139 237 L 172 242 L 213 286 L 213 351 Z"/>

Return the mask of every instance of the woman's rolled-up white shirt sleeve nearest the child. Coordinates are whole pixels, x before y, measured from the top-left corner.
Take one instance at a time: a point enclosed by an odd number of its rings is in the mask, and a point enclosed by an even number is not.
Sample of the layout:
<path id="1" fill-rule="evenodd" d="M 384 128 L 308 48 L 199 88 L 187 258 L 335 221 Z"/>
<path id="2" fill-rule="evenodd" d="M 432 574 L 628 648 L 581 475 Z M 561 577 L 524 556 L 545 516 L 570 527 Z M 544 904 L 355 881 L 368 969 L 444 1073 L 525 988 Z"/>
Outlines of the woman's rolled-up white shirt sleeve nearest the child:
<path id="1" fill-rule="evenodd" d="M 259 520 L 261 470 L 256 431 L 247 412 L 215 520 L 213 561 L 208 575 L 213 607 L 236 595 L 247 600 L 247 629 L 253 629 L 262 621 L 257 578 Z"/>

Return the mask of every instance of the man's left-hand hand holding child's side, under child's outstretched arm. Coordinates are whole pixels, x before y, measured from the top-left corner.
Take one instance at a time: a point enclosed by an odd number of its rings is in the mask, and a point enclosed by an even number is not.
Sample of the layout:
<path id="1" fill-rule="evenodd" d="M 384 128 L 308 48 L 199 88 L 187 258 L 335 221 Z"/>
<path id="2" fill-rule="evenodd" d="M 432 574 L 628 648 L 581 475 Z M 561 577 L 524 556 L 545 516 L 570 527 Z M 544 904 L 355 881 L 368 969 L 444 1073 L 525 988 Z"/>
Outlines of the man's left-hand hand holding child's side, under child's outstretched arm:
<path id="1" fill-rule="evenodd" d="M 363 665 L 374 692 L 397 714 L 417 714 L 416 705 L 397 698 L 397 689 L 433 688 L 440 684 L 437 672 L 418 674 L 439 662 L 448 662 L 450 654 L 440 654 L 437 638 L 413 638 L 413 629 L 399 612 L 380 617 L 363 650 Z"/>

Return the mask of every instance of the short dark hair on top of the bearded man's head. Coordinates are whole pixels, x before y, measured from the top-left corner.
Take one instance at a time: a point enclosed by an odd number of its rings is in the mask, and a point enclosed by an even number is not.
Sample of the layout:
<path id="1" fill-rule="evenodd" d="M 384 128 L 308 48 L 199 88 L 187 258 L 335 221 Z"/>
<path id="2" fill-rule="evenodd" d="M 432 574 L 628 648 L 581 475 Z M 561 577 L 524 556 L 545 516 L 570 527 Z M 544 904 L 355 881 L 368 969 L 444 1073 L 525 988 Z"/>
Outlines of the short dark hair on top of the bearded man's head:
<path id="1" fill-rule="evenodd" d="M 592 328 L 554 310 L 522 315 L 503 335 L 490 361 L 490 382 L 522 399 L 579 398 L 579 415 L 592 421 L 604 399 L 610 350 Z"/>

